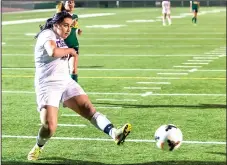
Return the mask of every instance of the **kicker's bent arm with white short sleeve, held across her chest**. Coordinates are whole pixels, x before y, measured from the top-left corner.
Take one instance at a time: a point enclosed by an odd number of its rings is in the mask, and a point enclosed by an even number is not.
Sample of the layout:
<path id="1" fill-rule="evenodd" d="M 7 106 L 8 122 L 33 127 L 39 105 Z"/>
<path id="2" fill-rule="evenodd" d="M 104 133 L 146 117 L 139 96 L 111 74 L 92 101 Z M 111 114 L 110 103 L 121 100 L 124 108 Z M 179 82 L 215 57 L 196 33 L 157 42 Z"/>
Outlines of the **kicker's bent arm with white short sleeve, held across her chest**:
<path id="1" fill-rule="evenodd" d="M 72 56 L 77 56 L 77 53 L 72 48 L 58 48 L 55 41 L 48 40 L 44 43 L 44 48 L 46 49 L 49 56 L 61 58 L 68 54 Z"/>

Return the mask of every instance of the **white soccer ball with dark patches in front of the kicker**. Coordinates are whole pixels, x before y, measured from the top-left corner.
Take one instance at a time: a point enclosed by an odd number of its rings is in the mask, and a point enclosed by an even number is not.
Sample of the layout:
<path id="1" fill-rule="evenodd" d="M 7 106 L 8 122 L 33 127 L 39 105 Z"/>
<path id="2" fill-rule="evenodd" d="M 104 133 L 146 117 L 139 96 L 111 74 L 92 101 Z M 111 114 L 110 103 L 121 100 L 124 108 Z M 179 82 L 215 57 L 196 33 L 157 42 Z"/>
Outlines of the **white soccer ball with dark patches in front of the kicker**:
<path id="1" fill-rule="evenodd" d="M 157 147 L 169 151 L 179 148 L 183 140 L 181 130 L 173 124 L 160 126 L 154 136 Z"/>

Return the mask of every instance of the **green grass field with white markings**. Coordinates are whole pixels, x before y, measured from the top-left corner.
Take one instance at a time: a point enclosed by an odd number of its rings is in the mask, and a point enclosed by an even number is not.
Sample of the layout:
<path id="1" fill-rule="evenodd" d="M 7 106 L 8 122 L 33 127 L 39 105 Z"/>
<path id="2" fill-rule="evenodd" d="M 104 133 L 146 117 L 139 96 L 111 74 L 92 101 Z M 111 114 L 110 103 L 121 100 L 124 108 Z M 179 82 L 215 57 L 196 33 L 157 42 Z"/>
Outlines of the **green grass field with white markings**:
<path id="1" fill-rule="evenodd" d="M 172 16 L 188 12 L 172 8 Z M 37 33 L 43 22 L 3 25 L 2 164 L 224 165 L 226 11 L 202 8 L 201 12 L 197 26 L 188 15 L 163 27 L 158 8 L 78 10 L 79 16 L 114 13 L 79 20 L 83 30 L 79 84 L 113 124 L 130 122 L 133 130 L 123 146 L 116 146 L 87 120 L 65 116 L 74 113 L 60 108 L 59 124 L 83 127 L 59 126 L 34 163 L 26 157 L 40 123 L 33 87 L 35 40 L 25 34 Z M 53 11 L 3 13 L 2 19 L 52 15 Z M 124 26 L 86 27 L 92 25 Z M 185 141 L 174 152 L 161 151 L 152 141 L 155 130 L 169 123 L 182 130 Z"/>

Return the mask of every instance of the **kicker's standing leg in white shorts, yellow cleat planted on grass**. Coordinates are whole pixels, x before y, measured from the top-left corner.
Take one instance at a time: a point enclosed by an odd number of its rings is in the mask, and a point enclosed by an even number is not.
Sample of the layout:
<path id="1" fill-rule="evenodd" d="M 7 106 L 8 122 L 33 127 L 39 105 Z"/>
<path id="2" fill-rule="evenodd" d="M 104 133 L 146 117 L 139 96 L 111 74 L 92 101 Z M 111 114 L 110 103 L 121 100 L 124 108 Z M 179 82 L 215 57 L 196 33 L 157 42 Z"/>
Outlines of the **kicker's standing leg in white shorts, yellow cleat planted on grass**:
<path id="1" fill-rule="evenodd" d="M 28 160 L 37 160 L 39 158 L 44 145 L 56 131 L 58 107 L 63 93 L 61 86 L 55 84 L 52 87 L 49 86 L 48 89 L 45 87 L 37 90 L 38 92 L 36 91 L 41 127 L 38 131 L 36 144 L 27 156 Z M 43 93 L 39 94 L 39 91 L 43 91 Z"/>

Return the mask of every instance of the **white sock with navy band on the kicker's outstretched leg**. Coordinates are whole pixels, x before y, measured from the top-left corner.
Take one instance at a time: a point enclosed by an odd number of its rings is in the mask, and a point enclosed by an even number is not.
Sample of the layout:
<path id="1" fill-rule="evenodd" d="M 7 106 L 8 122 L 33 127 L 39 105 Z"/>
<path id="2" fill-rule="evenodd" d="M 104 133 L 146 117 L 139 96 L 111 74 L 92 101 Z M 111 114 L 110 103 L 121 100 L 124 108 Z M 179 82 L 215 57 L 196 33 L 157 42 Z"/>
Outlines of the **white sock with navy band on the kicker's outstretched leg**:
<path id="1" fill-rule="evenodd" d="M 106 134 L 110 135 L 113 139 L 115 139 L 115 130 L 113 124 L 101 113 L 96 112 L 90 122 L 101 131 L 105 132 Z"/>

